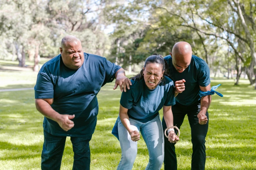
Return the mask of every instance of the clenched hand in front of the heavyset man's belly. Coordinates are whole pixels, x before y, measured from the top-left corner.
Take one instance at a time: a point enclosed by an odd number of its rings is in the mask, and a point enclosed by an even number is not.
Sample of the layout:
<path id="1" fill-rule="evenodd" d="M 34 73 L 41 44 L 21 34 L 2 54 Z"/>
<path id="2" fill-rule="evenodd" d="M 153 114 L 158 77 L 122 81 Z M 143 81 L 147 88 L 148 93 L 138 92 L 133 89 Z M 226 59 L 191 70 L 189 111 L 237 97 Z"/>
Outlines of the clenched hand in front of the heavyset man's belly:
<path id="1" fill-rule="evenodd" d="M 70 119 L 74 119 L 75 115 L 62 115 L 60 114 L 60 117 L 57 120 L 57 123 L 60 125 L 61 129 L 64 131 L 68 131 L 71 128 L 74 127 L 74 121 Z"/>

